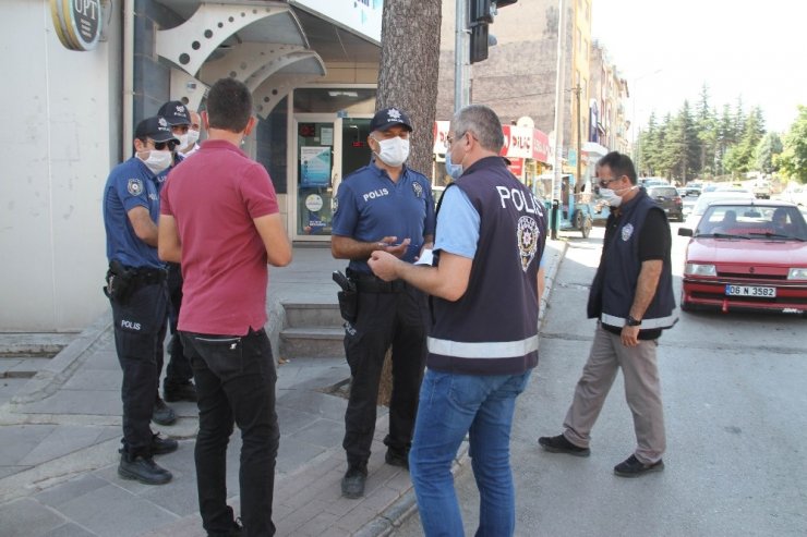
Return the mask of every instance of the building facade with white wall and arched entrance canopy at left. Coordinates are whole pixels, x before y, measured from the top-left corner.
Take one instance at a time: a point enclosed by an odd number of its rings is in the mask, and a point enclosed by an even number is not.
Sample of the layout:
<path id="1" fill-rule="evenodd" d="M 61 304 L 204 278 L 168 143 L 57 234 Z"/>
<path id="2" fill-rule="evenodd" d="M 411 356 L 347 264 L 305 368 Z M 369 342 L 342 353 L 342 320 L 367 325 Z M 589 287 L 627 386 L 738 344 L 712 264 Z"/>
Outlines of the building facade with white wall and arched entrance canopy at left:
<path id="1" fill-rule="evenodd" d="M 0 331 L 76 331 L 108 307 L 101 193 L 136 123 L 204 108 L 232 76 L 260 122 L 289 235 L 327 241 L 339 181 L 363 166 L 382 0 L 10 0 L 0 21 L 7 155 Z"/>

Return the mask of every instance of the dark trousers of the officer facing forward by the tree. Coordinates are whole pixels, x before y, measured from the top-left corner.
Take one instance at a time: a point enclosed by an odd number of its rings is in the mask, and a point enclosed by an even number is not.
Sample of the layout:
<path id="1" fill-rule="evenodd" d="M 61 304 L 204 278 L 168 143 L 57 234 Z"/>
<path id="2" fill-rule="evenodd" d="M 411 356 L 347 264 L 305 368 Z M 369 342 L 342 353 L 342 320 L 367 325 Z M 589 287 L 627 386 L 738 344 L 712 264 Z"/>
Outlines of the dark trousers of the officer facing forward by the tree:
<path id="1" fill-rule="evenodd" d="M 348 464 L 364 465 L 375 432 L 378 383 L 387 349 L 393 346 L 389 402 L 390 449 L 406 454 L 412 442 L 418 392 L 426 358 L 425 295 L 406 285 L 397 293 L 359 292 L 359 317 L 346 325 L 345 354 L 352 382 L 345 413 Z"/>

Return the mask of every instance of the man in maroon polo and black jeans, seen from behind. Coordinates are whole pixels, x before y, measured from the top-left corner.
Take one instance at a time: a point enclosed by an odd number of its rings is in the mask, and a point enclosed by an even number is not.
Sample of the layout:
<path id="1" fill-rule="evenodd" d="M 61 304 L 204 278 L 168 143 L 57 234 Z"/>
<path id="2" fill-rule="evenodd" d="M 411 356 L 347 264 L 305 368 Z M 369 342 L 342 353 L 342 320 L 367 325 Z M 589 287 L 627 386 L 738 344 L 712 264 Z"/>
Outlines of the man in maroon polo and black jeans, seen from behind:
<path id="1" fill-rule="evenodd" d="M 272 500 L 279 441 L 277 374 L 266 324 L 267 263 L 291 261 L 277 196 L 241 142 L 255 126 L 252 96 L 233 78 L 209 90 L 208 139 L 179 164 L 161 192 L 161 259 L 181 263 L 179 332 L 198 393 L 196 481 L 208 535 L 241 535 L 227 505 L 226 452 L 241 429 L 243 535 L 275 534 Z"/>

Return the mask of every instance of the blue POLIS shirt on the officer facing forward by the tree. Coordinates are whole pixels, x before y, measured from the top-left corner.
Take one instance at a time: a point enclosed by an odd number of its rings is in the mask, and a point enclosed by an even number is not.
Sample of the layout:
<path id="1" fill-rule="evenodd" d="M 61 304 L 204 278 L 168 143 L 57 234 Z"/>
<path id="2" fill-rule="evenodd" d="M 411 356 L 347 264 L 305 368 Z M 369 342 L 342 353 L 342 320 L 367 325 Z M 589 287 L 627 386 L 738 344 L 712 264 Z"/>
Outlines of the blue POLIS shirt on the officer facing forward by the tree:
<path id="1" fill-rule="evenodd" d="M 423 246 L 423 235 L 434 234 L 431 183 L 406 166 L 395 183 L 371 162 L 339 185 L 332 225 L 334 235 L 361 242 L 378 242 L 385 236 L 396 236 L 396 243 L 410 239 L 401 259 L 413 263 Z M 351 260 L 349 268 L 371 273 L 364 260 Z"/>

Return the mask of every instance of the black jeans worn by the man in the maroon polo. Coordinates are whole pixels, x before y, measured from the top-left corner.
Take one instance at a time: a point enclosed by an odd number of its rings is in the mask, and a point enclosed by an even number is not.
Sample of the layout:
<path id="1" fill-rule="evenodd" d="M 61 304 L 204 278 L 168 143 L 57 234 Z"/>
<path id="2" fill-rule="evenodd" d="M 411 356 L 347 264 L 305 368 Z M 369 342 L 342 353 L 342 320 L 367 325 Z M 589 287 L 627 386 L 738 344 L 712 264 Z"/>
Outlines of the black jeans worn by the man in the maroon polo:
<path id="1" fill-rule="evenodd" d="M 198 394 L 196 485 L 204 528 L 227 533 L 227 444 L 233 423 L 241 429 L 241 521 L 244 535 L 275 535 L 272 501 L 280 439 L 275 413 L 277 373 L 266 331 L 210 335 L 180 331 Z"/>

